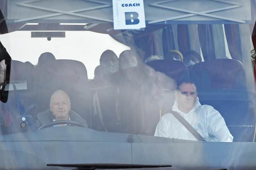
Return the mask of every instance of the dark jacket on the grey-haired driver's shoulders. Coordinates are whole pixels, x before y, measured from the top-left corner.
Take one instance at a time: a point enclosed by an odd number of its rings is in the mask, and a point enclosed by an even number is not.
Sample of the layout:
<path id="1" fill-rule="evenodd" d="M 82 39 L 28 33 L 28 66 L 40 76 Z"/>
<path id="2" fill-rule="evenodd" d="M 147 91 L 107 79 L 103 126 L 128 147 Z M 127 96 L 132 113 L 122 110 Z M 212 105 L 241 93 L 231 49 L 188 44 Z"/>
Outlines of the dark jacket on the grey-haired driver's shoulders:
<path id="1" fill-rule="evenodd" d="M 75 121 L 88 127 L 86 120 L 82 118 L 80 115 L 78 115 L 76 112 L 70 110 L 69 117 L 70 121 Z M 47 125 L 48 123 L 53 122 L 54 115 L 52 115 L 52 111 L 50 109 L 47 109 L 46 111 L 38 113 L 36 115 L 36 118 L 37 119 L 34 125 L 34 129 L 38 129 L 42 125 Z"/>

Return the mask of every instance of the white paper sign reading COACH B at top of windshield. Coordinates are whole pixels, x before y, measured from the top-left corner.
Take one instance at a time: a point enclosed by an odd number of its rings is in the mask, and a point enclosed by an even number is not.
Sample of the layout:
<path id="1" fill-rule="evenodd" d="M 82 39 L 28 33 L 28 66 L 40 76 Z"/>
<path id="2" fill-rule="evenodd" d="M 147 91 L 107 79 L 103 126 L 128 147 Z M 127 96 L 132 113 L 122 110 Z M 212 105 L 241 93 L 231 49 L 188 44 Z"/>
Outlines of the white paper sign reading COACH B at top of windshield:
<path id="1" fill-rule="evenodd" d="M 113 0 L 114 29 L 146 27 L 143 0 Z"/>

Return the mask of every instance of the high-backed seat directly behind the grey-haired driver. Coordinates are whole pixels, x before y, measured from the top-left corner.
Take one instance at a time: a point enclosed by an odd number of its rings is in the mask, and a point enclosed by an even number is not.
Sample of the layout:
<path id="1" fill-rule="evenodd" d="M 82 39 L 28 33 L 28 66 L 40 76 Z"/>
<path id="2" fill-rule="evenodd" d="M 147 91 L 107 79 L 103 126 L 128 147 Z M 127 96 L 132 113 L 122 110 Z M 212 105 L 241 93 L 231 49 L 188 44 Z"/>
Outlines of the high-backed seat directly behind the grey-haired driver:
<path id="1" fill-rule="evenodd" d="M 35 71 L 34 90 L 38 110 L 49 108 L 50 96 L 64 90 L 70 97 L 71 109 L 88 121 L 90 126 L 89 86 L 87 70 L 83 63 L 74 60 L 53 60 L 38 64 Z"/>

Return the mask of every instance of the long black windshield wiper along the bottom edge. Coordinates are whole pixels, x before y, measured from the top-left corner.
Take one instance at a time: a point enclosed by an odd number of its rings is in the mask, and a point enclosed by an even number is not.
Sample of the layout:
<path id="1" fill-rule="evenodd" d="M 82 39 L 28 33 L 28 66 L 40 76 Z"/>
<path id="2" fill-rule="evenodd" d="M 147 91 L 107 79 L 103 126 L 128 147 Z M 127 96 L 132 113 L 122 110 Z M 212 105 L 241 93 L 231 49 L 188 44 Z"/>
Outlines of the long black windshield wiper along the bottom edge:
<path id="1" fill-rule="evenodd" d="M 47 164 L 47 166 L 74 167 L 76 168 L 74 170 L 172 167 L 172 165 L 140 165 L 140 164 Z"/>

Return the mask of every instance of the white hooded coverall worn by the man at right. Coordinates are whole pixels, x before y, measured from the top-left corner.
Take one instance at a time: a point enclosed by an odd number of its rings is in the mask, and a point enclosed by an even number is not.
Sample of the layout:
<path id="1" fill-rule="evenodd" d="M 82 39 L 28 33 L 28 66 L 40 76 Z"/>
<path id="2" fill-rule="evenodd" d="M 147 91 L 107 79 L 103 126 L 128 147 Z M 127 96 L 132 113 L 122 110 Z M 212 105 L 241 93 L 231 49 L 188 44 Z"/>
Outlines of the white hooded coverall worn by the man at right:
<path id="1" fill-rule="evenodd" d="M 177 101 L 174 102 L 172 110 L 180 113 L 206 141 L 233 141 L 233 136 L 220 113 L 212 106 L 201 105 L 198 98 L 196 98 L 194 108 L 188 113 L 183 113 L 178 109 Z M 154 136 L 197 141 L 172 113 L 162 116 L 156 126 Z"/>

